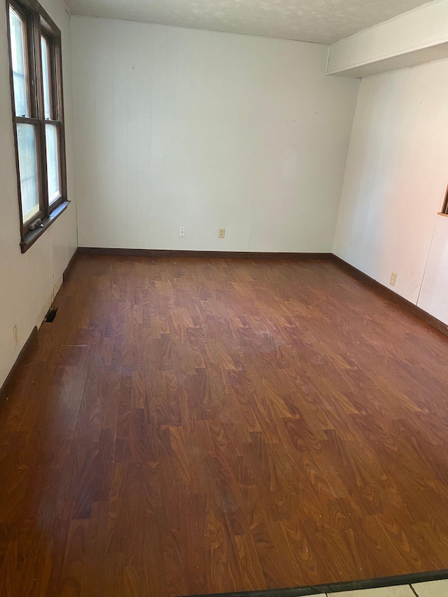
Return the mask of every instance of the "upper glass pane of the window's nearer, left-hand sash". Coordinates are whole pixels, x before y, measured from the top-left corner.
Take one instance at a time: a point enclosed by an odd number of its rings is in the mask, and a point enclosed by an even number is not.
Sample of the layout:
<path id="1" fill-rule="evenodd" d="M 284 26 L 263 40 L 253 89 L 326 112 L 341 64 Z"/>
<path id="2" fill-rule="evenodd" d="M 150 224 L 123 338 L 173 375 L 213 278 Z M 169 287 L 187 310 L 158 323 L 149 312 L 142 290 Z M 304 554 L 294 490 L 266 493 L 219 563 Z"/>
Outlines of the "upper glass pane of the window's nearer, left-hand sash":
<path id="1" fill-rule="evenodd" d="M 15 115 L 29 116 L 27 61 L 25 52 L 25 23 L 22 17 L 9 8 L 9 24 L 11 35 L 11 57 L 13 62 Z"/>

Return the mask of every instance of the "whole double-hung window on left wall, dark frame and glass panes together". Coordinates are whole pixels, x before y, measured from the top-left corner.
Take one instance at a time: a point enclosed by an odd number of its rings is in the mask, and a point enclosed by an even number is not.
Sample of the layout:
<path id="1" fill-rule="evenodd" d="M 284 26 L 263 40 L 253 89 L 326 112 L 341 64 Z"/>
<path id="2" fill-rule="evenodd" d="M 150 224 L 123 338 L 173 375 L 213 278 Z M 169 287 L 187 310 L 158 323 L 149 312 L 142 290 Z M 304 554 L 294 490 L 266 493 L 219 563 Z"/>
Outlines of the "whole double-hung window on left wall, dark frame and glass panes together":
<path id="1" fill-rule="evenodd" d="M 20 246 L 25 252 L 69 204 L 61 34 L 37 2 L 8 0 L 6 8 Z"/>

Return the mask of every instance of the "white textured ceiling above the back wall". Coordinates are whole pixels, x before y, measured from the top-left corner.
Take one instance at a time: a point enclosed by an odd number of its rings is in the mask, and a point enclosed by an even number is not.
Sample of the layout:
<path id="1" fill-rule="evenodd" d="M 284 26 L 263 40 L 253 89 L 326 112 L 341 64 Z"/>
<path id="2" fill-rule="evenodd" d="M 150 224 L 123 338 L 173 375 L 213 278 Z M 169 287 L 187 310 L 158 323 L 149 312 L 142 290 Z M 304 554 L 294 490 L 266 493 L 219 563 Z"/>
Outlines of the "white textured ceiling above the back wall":
<path id="1" fill-rule="evenodd" d="M 66 0 L 71 13 L 332 43 L 427 0 Z"/>

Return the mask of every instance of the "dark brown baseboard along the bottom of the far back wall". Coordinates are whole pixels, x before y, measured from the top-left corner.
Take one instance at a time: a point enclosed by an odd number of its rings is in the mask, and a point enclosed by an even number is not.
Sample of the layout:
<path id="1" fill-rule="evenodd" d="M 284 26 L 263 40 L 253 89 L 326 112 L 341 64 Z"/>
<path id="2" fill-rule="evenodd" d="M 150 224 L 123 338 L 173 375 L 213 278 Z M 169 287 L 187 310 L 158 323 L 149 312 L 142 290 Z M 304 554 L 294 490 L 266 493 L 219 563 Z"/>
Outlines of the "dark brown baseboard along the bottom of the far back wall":
<path id="1" fill-rule="evenodd" d="M 80 255 L 117 255 L 121 257 L 204 257 L 233 259 L 332 259 L 332 253 L 255 253 L 253 251 L 171 251 L 150 248 L 102 248 L 80 246 Z"/>

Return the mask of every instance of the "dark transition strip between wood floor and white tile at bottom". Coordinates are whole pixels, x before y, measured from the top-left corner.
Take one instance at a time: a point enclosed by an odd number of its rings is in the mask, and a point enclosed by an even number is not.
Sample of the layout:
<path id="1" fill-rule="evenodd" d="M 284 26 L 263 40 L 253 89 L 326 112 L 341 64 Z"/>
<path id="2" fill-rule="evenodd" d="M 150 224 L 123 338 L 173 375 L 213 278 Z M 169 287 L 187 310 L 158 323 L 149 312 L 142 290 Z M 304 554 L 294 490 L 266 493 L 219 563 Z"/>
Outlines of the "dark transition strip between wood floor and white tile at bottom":
<path id="1" fill-rule="evenodd" d="M 435 570 L 368 580 L 353 580 L 350 582 L 334 582 L 318 584 L 313 587 L 293 587 L 291 589 L 269 589 L 267 591 L 242 591 L 240 593 L 215 593 L 208 595 L 189 595 L 186 597 L 304 597 L 307 595 L 322 595 L 339 593 L 342 591 L 362 591 L 363 589 L 379 589 L 381 587 L 396 587 L 402 584 L 416 584 L 432 580 L 445 580 L 448 570 Z"/>

